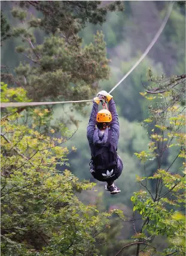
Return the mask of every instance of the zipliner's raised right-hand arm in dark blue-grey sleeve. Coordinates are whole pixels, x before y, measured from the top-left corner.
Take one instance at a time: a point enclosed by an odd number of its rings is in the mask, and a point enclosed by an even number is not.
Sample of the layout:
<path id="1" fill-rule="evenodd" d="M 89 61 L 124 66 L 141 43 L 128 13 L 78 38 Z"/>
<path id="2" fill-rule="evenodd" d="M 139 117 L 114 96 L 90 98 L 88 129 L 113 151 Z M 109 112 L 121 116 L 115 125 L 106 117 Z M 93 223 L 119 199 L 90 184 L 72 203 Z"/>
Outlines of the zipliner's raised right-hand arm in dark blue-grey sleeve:
<path id="1" fill-rule="evenodd" d="M 119 120 L 118 120 L 117 109 L 115 107 L 115 102 L 113 99 L 109 100 L 108 108 L 112 115 L 111 129 L 114 130 L 114 132 L 116 132 L 117 135 L 119 136 L 120 124 L 119 124 Z"/>

